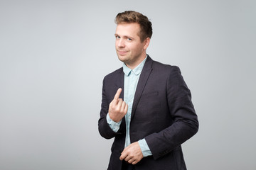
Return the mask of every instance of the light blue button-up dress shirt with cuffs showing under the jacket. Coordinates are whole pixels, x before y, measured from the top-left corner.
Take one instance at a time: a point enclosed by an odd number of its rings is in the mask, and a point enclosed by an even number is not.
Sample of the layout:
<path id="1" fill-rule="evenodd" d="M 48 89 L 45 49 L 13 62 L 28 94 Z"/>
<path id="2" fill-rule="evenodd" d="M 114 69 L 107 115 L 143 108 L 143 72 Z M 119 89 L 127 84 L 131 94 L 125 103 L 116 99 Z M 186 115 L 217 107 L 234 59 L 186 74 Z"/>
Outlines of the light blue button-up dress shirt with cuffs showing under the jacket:
<path id="1" fill-rule="evenodd" d="M 147 57 L 146 57 L 147 58 Z M 125 136 L 125 145 L 124 147 L 128 147 L 131 144 L 130 136 L 129 136 L 129 126 L 131 122 L 131 115 L 132 115 L 132 103 L 134 101 L 134 94 L 137 89 L 137 84 L 139 81 L 139 76 L 142 72 L 144 64 L 146 62 L 146 58 L 134 69 L 129 69 L 125 64 L 123 64 L 123 71 L 124 71 L 124 101 L 128 105 L 128 111 L 125 115 L 125 123 L 126 123 L 126 136 Z M 114 122 L 110 115 L 107 114 L 107 123 L 110 125 L 110 128 L 117 132 L 119 130 L 119 125 L 121 124 L 122 120 L 119 123 Z M 147 157 L 152 155 L 149 146 L 146 144 L 146 140 L 142 139 L 139 140 L 139 147 L 142 150 L 143 157 Z"/>

